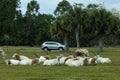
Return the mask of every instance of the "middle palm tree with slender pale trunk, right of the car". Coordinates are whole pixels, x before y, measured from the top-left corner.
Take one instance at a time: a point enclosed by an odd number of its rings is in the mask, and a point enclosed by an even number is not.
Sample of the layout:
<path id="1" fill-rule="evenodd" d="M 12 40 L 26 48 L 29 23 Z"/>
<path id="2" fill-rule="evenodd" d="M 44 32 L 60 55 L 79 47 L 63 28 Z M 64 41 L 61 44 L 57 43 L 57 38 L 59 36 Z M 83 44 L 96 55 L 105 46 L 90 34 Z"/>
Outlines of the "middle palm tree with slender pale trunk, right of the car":
<path id="1" fill-rule="evenodd" d="M 71 17 L 70 25 L 72 26 L 72 30 L 76 35 L 77 48 L 80 48 L 79 43 L 79 33 L 83 33 L 83 23 L 85 19 L 86 12 L 82 9 L 83 4 L 75 4 L 73 8 L 70 10 L 69 15 Z"/>

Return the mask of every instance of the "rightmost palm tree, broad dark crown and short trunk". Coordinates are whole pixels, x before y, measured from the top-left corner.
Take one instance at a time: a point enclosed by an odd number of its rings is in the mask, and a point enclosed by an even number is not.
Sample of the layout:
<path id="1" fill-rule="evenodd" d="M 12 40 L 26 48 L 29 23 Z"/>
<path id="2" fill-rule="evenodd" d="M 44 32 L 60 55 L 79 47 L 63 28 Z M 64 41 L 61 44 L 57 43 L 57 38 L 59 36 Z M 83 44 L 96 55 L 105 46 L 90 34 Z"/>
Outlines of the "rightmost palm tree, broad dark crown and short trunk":
<path id="1" fill-rule="evenodd" d="M 106 34 L 111 34 L 111 32 L 116 31 L 114 25 L 112 25 L 111 20 L 113 21 L 112 13 L 107 11 L 104 7 L 89 5 L 88 6 L 89 15 L 90 15 L 90 26 L 92 31 L 99 38 L 99 51 L 103 51 L 102 38 Z M 114 23 L 113 23 L 114 24 Z M 112 31 L 113 30 L 113 31 Z"/>

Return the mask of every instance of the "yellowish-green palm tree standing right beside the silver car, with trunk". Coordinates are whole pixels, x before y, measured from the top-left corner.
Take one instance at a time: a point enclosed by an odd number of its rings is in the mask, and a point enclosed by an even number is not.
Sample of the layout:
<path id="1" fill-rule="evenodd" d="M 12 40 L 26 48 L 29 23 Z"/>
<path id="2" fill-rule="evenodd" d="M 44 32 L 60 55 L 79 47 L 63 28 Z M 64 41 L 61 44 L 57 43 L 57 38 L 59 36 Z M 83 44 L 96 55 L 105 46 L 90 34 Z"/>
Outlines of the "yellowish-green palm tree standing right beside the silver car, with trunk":
<path id="1" fill-rule="evenodd" d="M 68 50 L 68 35 L 69 35 L 69 23 L 67 16 L 60 16 L 52 22 L 52 26 L 50 28 L 50 32 L 53 37 L 64 37 L 64 44 L 66 46 L 66 50 Z"/>

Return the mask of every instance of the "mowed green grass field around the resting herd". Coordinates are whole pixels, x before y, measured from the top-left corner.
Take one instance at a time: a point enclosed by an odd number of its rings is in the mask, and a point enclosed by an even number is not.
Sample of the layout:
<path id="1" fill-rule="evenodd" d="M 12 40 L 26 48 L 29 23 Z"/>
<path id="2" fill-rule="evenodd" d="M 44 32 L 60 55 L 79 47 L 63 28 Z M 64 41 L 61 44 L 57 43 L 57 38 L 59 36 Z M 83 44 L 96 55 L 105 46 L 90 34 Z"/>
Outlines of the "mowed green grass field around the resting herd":
<path id="1" fill-rule="evenodd" d="M 46 55 L 40 47 L 14 47 L 1 46 L 7 54 L 7 58 L 12 58 L 13 53 L 19 50 L 21 55 L 35 58 L 34 54 L 39 56 Z M 88 48 L 90 57 L 98 48 Z M 75 48 L 70 48 L 68 52 L 49 51 L 52 58 L 57 54 L 65 56 L 73 54 Z M 43 66 L 42 64 L 29 66 L 11 66 L 6 65 L 4 59 L 0 57 L 0 80 L 120 80 L 120 48 L 104 48 L 100 53 L 102 57 L 111 59 L 111 64 L 97 64 L 83 67 L 69 67 L 65 65 Z"/>

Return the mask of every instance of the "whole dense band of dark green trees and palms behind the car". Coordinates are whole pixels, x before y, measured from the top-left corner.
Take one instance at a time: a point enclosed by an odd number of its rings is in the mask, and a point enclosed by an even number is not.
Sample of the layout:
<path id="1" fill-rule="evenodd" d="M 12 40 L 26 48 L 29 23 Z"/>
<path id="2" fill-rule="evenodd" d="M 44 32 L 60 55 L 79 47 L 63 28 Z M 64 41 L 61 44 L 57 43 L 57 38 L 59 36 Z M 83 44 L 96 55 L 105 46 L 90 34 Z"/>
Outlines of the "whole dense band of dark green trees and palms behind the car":
<path id="1" fill-rule="evenodd" d="M 120 14 L 102 4 L 71 5 L 58 3 L 54 14 L 41 14 L 40 4 L 32 0 L 26 14 L 20 10 L 20 0 L 0 1 L 0 45 L 40 46 L 54 40 L 67 47 L 120 45 Z"/>

